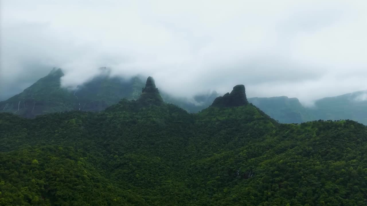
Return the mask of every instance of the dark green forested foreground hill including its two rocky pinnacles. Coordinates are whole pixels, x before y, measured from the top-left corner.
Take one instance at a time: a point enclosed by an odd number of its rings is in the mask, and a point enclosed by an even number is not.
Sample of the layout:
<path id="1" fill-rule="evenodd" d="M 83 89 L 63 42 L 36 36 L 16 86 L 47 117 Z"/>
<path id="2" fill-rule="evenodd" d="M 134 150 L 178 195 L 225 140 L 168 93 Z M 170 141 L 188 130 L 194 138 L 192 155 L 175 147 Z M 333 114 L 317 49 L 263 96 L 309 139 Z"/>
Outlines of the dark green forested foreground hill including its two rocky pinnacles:
<path id="1" fill-rule="evenodd" d="M 292 205 L 367 202 L 367 128 L 279 124 L 243 85 L 197 114 L 152 78 L 100 113 L 0 113 L 0 205 Z"/>

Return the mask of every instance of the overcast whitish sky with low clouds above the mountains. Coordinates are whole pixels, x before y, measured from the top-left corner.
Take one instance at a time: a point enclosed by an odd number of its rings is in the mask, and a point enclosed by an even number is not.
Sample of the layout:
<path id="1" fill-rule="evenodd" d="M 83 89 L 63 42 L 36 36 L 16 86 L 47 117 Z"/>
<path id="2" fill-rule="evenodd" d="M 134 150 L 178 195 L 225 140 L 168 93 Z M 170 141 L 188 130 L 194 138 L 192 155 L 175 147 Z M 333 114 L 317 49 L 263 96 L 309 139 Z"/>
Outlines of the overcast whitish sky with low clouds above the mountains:
<path id="1" fill-rule="evenodd" d="M 309 104 L 367 89 L 366 0 L 0 2 L 0 99 L 52 67 L 67 87 L 108 66 L 178 96 L 244 84 Z"/>

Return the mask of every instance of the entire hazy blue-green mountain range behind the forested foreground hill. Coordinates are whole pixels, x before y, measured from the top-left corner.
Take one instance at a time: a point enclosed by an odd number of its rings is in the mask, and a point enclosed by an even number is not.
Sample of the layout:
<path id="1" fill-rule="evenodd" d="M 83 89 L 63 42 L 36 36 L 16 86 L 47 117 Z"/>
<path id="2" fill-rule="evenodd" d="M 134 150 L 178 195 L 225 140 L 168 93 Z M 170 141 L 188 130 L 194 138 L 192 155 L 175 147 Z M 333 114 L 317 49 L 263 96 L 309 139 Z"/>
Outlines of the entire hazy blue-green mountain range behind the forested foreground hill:
<path id="1" fill-rule="evenodd" d="M 74 90 L 61 87 L 61 69 L 54 68 L 46 77 L 26 88 L 23 92 L 0 102 L 0 111 L 23 117 L 52 112 L 81 110 L 102 111 L 120 99 L 137 99 L 144 87 L 142 77 L 123 80 L 109 77 L 108 69 L 101 68 L 101 75 L 78 86 Z M 177 98 L 162 93 L 163 100 L 175 104 L 190 113 L 197 113 L 210 106 L 220 94 L 217 92 L 196 95 L 193 99 Z M 367 125 L 367 91 L 316 100 L 313 107 L 303 106 L 297 98 L 287 96 L 248 98 L 270 117 L 281 123 L 301 123 L 318 119 L 351 119 Z"/>

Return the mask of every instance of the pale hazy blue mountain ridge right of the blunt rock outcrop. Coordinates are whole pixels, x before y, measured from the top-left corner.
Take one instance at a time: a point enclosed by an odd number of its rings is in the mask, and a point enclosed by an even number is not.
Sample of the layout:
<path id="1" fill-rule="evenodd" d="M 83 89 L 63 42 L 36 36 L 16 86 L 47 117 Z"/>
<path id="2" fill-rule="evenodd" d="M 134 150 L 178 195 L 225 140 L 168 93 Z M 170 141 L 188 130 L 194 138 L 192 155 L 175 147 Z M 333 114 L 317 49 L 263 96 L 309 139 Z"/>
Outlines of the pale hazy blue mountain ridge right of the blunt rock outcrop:
<path id="1" fill-rule="evenodd" d="M 305 107 L 297 98 L 286 96 L 249 98 L 248 101 L 281 123 L 352 119 L 367 125 L 367 91 L 319 99 L 313 107 Z"/>

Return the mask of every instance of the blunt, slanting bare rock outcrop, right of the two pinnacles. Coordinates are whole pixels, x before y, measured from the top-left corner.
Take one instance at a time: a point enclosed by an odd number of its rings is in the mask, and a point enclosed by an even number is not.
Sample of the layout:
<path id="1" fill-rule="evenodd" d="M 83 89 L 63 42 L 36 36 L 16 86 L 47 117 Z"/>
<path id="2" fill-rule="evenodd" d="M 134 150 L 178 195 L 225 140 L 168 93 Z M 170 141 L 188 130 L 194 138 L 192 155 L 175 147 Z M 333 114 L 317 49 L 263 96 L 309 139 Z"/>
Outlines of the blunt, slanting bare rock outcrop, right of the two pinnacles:
<path id="1" fill-rule="evenodd" d="M 214 107 L 236 107 L 248 104 L 245 86 L 240 84 L 233 87 L 232 92 L 217 97 L 211 106 Z"/>

